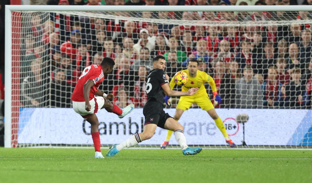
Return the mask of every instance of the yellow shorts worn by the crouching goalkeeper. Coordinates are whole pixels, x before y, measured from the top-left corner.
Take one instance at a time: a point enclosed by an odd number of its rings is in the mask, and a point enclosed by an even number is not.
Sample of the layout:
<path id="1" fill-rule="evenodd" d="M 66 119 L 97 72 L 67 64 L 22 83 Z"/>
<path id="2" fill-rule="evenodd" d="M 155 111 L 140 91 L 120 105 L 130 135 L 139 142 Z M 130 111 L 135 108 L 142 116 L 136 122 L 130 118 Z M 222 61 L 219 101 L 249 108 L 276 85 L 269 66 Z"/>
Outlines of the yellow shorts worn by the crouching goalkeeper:
<path id="1" fill-rule="evenodd" d="M 183 96 L 180 97 L 180 100 L 177 105 L 177 109 L 188 110 L 192 104 L 196 103 L 202 110 L 208 111 L 214 108 L 213 104 L 211 103 L 208 94 L 202 96 Z"/>

